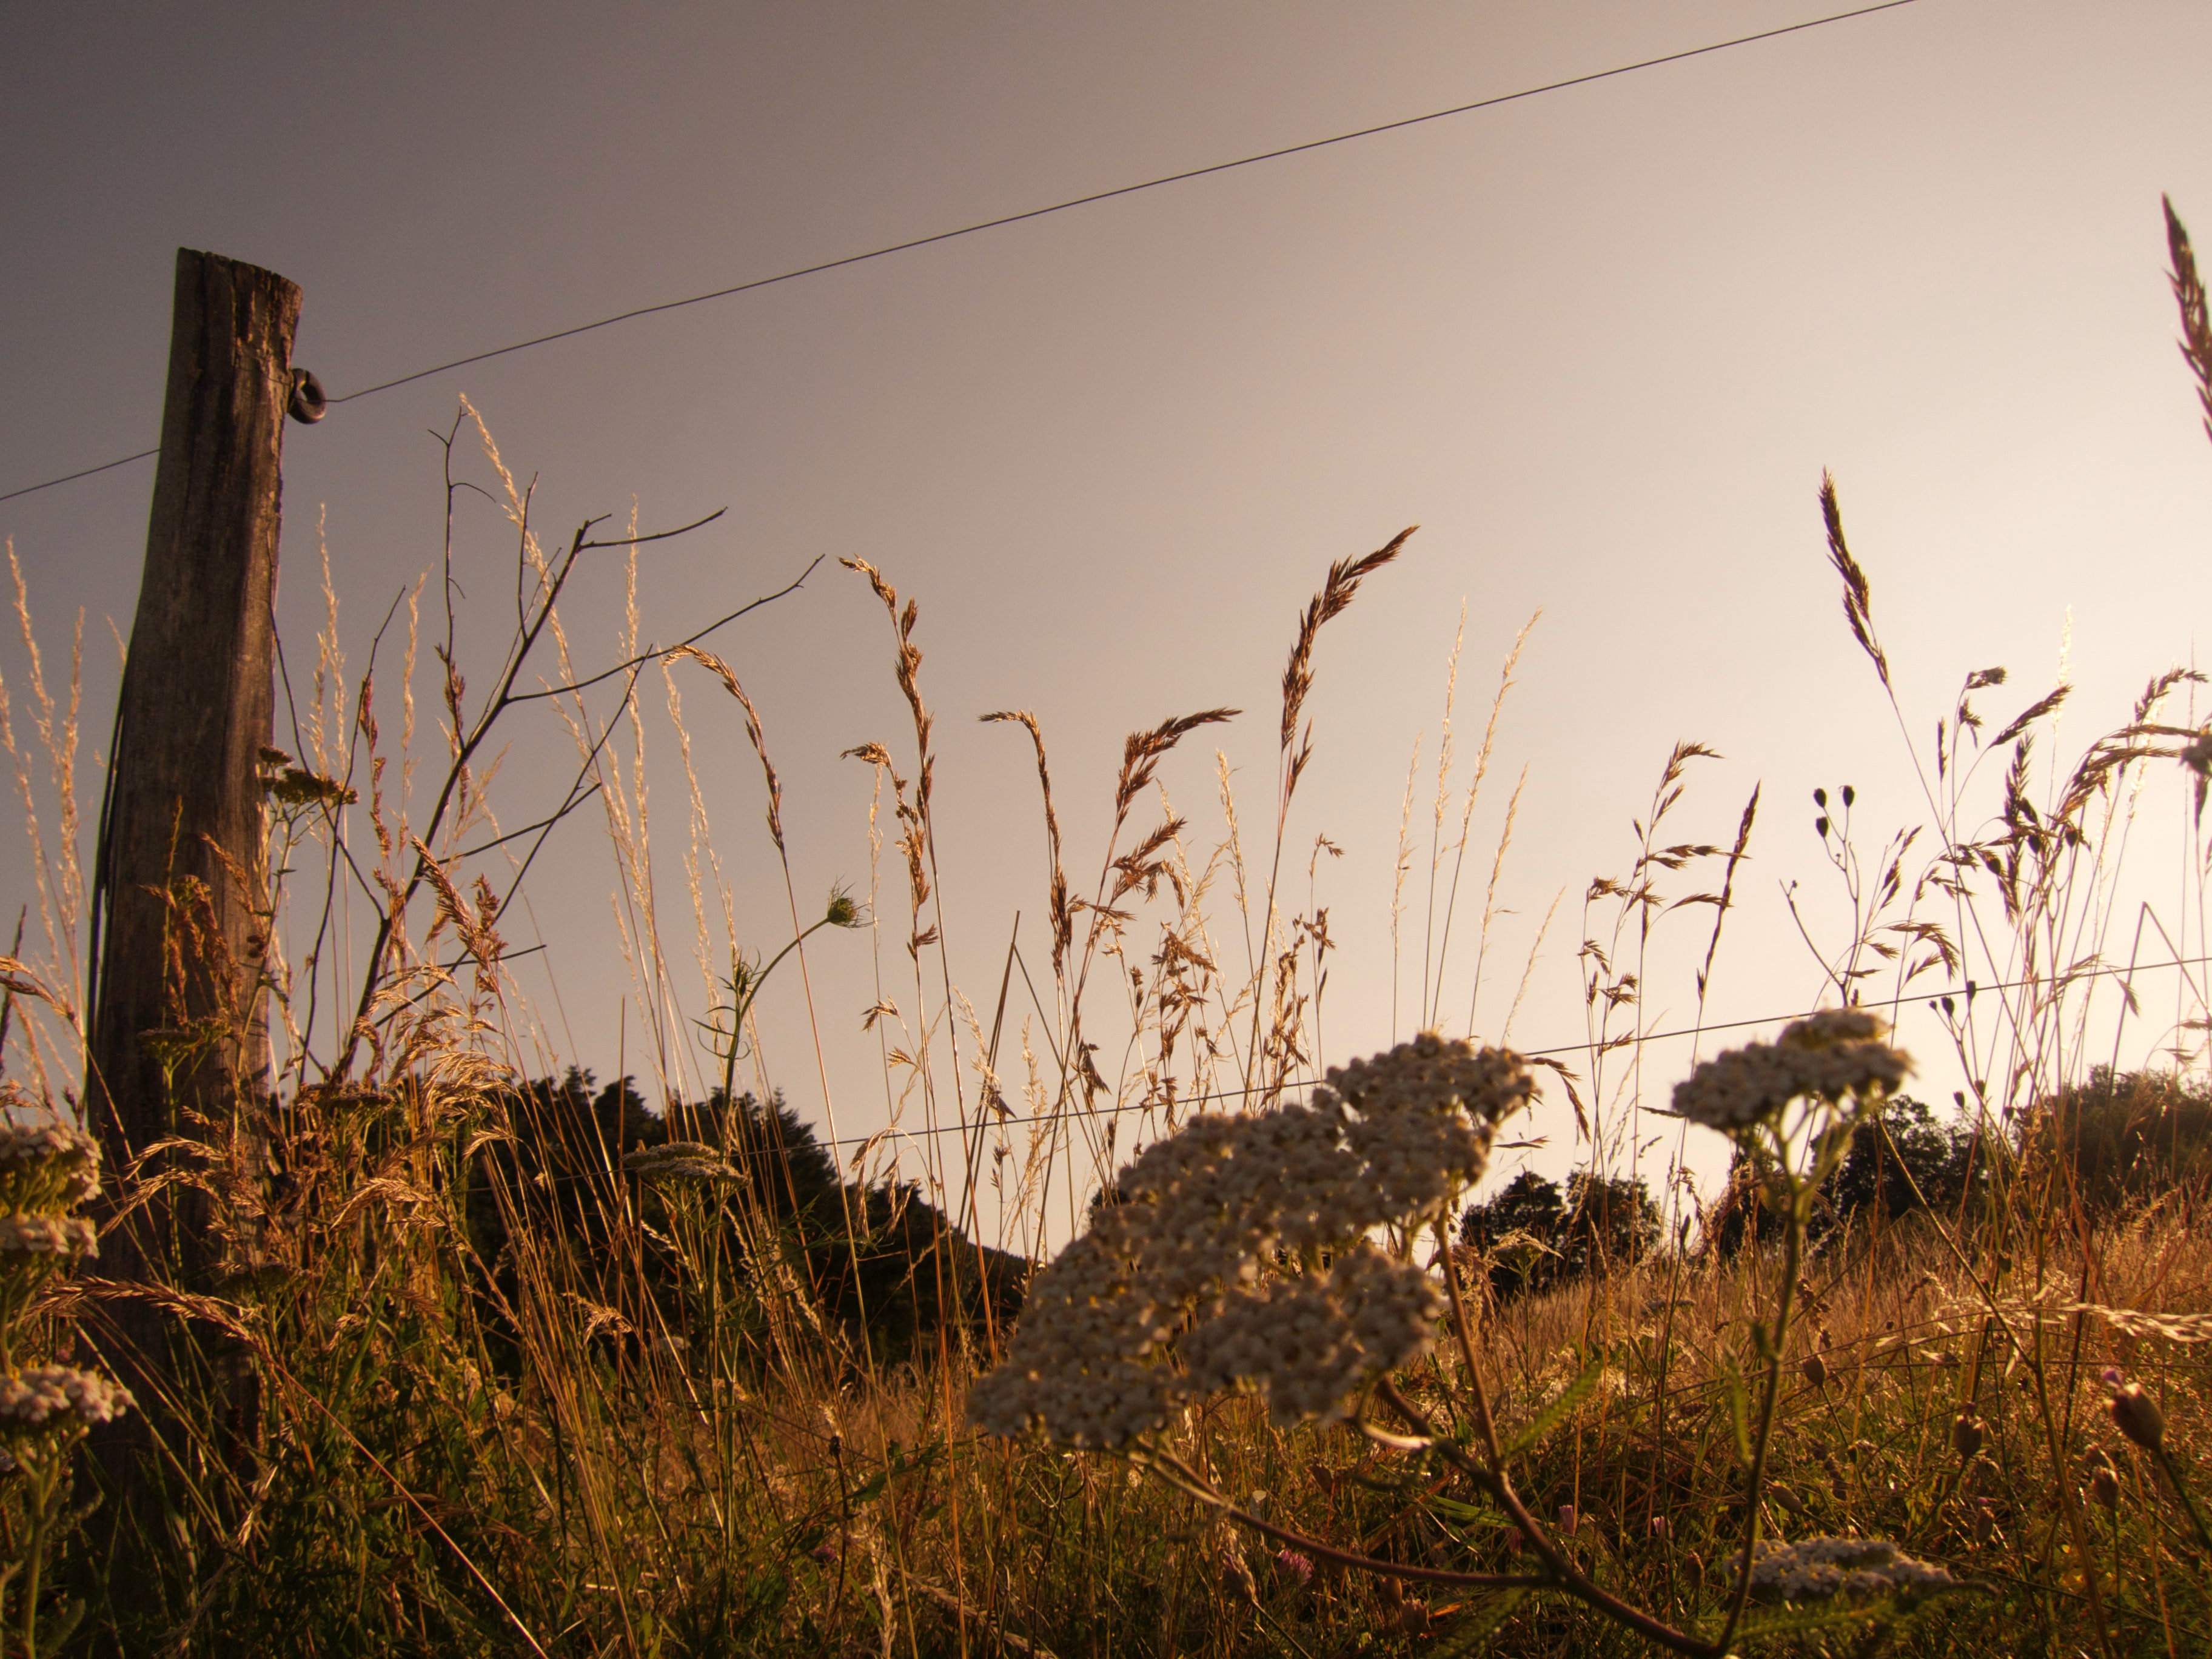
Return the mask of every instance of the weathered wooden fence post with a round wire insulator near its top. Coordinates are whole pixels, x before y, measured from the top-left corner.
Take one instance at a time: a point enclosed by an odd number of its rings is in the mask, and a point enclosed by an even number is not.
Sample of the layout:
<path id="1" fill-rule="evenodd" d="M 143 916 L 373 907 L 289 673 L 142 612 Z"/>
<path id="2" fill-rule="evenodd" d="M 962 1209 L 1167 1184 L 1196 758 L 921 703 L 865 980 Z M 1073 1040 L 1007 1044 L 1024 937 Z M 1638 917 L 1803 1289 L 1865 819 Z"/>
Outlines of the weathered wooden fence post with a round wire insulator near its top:
<path id="1" fill-rule="evenodd" d="M 274 706 L 279 460 L 299 303 L 274 272 L 177 250 L 161 460 L 93 876 L 84 1095 L 111 1188 L 148 1146 L 190 1133 L 181 1110 L 221 1121 L 268 1088 L 259 752 Z M 210 1265 L 199 1208 L 170 1188 L 102 1239 L 102 1274 L 204 1290 L 192 1283 Z M 168 1270 L 150 1272 L 164 1256 Z M 128 1526 L 144 1520 L 128 1515 L 133 1471 L 161 1427 L 170 1338 L 166 1316 L 137 1301 L 111 1303 L 106 1327 L 111 1363 L 150 1413 L 95 1447 L 122 1500 L 113 1520 Z"/>

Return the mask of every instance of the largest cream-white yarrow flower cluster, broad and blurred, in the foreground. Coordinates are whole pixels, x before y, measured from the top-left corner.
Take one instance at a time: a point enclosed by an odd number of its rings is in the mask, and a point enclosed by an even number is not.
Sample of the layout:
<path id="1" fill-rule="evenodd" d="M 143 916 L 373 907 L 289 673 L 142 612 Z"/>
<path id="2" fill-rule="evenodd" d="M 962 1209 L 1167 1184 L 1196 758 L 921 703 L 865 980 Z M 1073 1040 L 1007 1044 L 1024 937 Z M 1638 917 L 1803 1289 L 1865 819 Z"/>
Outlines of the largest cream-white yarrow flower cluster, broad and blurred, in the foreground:
<path id="1" fill-rule="evenodd" d="M 1338 1416 L 1418 1356 L 1440 1314 L 1427 1274 L 1358 1241 L 1438 1214 L 1531 1091 L 1520 1055 L 1422 1033 L 1332 1068 L 1303 1106 L 1190 1119 L 1037 1276 L 969 1416 L 1071 1447 L 1128 1444 L 1230 1387 L 1265 1396 L 1279 1422 Z M 1312 1270 L 1263 1285 L 1281 1259 Z M 1170 1343 L 1183 1376 L 1161 1363 Z"/>

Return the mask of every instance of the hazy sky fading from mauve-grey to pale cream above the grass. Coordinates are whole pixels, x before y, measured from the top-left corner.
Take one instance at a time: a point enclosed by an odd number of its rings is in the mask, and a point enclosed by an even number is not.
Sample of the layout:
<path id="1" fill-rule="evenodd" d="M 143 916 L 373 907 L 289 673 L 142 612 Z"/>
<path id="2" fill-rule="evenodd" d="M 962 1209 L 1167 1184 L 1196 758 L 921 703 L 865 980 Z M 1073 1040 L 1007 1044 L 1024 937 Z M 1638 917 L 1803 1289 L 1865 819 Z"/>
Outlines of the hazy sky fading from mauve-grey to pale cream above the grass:
<path id="1" fill-rule="evenodd" d="M 179 246 L 296 281 L 294 361 L 345 396 L 639 305 L 1816 15 L 1747 0 L 11 7 L 0 493 L 155 442 Z M 1584 891 L 1626 872 L 1677 741 L 1719 757 L 1688 772 L 1668 818 L 1681 838 L 1725 845 L 1761 790 L 1705 1018 L 1803 1011 L 1823 969 L 1787 883 L 1816 942 L 1847 931 L 1814 787 L 1856 785 L 1871 858 L 1927 816 L 1907 734 L 1927 750 L 1969 670 L 2013 670 L 1984 692 L 1995 719 L 2064 675 L 2068 750 L 2121 723 L 2150 675 L 2197 659 L 2212 451 L 2174 354 L 2159 197 L 2212 234 L 2203 62 L 2201 4 L 1916 0 L 341 403 L 285 434 L 292 692 L 312 697 L 325 546 L 356 677 L 387 608 L 434 571 L 434 434 L 467 398 L 535 480 L 546 542 L 602 513 L 619 526 L 633 504 L 641 529 L 723 511 L 641 551 L 644 641 L 812 566 L 706 644 L 759 708 L 792 883 L 814 914 L 834 883 L 867 896 L 874 774 L 841 754 L 880 741 L 911 776 L 887 619 L 838 566 L 863 557 L 920 606 L 949 975 L 989 1018 L 1015 914 L 1024 962 L 1048 956 L 1044 841 L 1026 739 L 975 717 L 1035 712 L 1071 880 L 1088 891 L 1124 734 L 1241 708 L 1159 781 L 1203 856 L 1221 825 L 1219 748 L 1259 856 L 1298 611 L 1332 560 L 1420 524 L 1316 655 L 1285 896 L 1329 907 L 1321 1057 L 1418 1024 L 1462 606 L 1453 787 L 1504 655 L 1542 619 L 1471 818 L 1442 1024 L 1469 1026 L 1467 942 L 1526 768 L 1473 1024 L 1502 1031 L 1564 894 L 1511 1035 L 1586 1037 L 1577 945 L 1608 918 L 1584 914 Z M 467 480 L 498 487 L 473 447 L 456 456 Z M 1874 584 L 1902 730 L 1838 613 L 1823 469 Z M 113 710 L 111 624 L 128 628 L 150 484 L 153 462 L 137 462 L 0 502 L 49 672 L 84 617 L 86 750 Z M 478 495 L 460 498 L 456 526 L 460 661 L 482 688 L 511 626 L 513 540 Z M 564 604 L 580 666 L 622 655 L 626 604 L 622 555 L 593 555 Z M 389 710 L 392 639 L 378 672 Z M 20 723 L 20 641 L 0 646 L 0 675 Z M 790 900 L 741 712 L 695 666 L 677 684 L 739 947 L 774 956 Z M 515 1018 L 535 1033 L 515 1064 L 697 1093 L 712 1062 L 684 1031 L 706 1011 L 686 967 L 688 785 L 664 692 L 646 688 L 661 925 L 688 1002 L 655 1037 L 591 807 L 502 927 L 518 949 L 544 945 L 513 962 L 535 1011 Z M 416 690 L 431 768 L 427 666 Z M 529 823 L 575 750 L 546 701 L 502 737 L 493 799 L 502 823 Z M 1413 942 L 1394 1013 L 1416 741 Z M 1447 838 L 1458 810 L 1455 796 Z M 2201 929 L 2183 914 L 2197 889 L 2179 768 L 2150 781 L 2143 814 L 2141 902 L 2185 951 Z M 1343 856 L 1307 896 L 1316 834 Z M 860 1031 L 872 1002 L 900 998 L 878 989 L 876 962 L 911 987 L 889 849 L 880 874 L 880 949 L 816 936 L 805 987 L 779 969 L 757 1009 L 765 1079 L 845 1137 L 891 1110 L 880 1040 Z M 20 847 L 0 883 L 31 900 Z M 1697 1022 L 1690 971 L 1710 920 L 1705 907 L 1661 918 L 1650 1029 Z M 2174 987 L 2170 973 L 2161 995 Z M 2128 1042 L 2170 1035 L 2150 1024 Z M 1905 1024 L 1900 1040 L 1938 1046 Z M 1688 1060 L 1661 1044 L 1648 1064 Z M 1931 1097 L 1949 1093 L 1944 1064 L 1924 1064 Z M 1553 1093 L 1524 1137 L 1546 1141 L 1526 1155 L 1557 1172 L 1579 1152 Z M 1646 1102 L 1659 1093 L 1648 1084 Z M 883 1146 L 920 1157 L 918 1141 Z M 1705 1175 L 1723 1159 L 1690 1148 Z"/>

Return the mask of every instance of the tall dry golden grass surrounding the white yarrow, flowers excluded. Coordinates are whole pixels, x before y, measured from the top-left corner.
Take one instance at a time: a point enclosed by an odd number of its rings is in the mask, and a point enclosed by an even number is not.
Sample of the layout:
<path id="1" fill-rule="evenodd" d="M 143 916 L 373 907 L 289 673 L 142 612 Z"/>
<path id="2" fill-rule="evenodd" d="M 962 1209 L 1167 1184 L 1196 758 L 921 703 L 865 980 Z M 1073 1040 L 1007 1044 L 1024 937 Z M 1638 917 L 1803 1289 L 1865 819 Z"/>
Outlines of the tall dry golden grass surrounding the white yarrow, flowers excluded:
<path id="1" fill-rule="evenodd" d="M 2212 336 L 2179 221 L 2170 246 L 2183 349 L 2212 409 Z M 1168 719 L 1128 737 L 1106 849 L 1077 898 L 1044 730 L 1022 710 L 984 717 L 1026 730 L 1044 816 L 1051 956 L 1031 964 L 1009 949 L 1006 984 L 1042 969 L 1037 1011 L 1013 1031 L 1004 995 L 987 1022 L 989 998 L 971 1002 L 951 971 L 920 608 L 876 566 L 849 562 L 885 608 L 909 726 L 896 745 L 852 752 L 876 772 L 891 883 L 905 883 L 905 902 L 887 902 L 874 880 L 867 894 L 869 1024 L 887 1106 L 894 1117 L 916 1113 L 929 1161 L 900 1172 L 880 1148 L 863 1148 L 856 1168 L 876 1190 L 838 1183 L 834 1206 L 810 1210 L 796 1164 L 761 1135 L 768 1119 L 721 1110 L 714 1091 L 726 1102 L 745 1082 L 763 975 L 805 984 L 805 938 L 854 918 L 834 900 L 816 920 L 796 896 L 768 732 L 737 675 L 697 641 L 655 650 L 639 637 L 635 549 L 646 538 L 635 520 L 604 544 L 586 526 L 549 555 L 529 491 L 480 420 L 476 434 L 515 540 L 522 628 L 489 677 L 493 692 L 471 701 L 451 613 L 425 619 L 409 602 L 394 741 L 376 723 L 376 650 L 349 686 L 330 604 L 314 701 L 294 739 L 305 781 L 272 810 L 272 867 L 292 872 L 276 916 L 290 942 L 276 987 L 285 1088 L 250 1133 L 239 1130 L 246 1115 L 190 1124 L 170 1148 L 181 1157 L 173 1179 L 201 1194 L 221 1272 L 195 1283 L 80 1281 L 42 1314 L 58 1352 L 113 1340 L 104 1310 L 122 1298 L 177 1321 L 177 1374 L 148 1400 L 168 1513 L 133 1533 L 146 1511 L 111 1506 L 71 1544 L 73 1584 L 93 1597 L 86 1628 L 111 1650 L 1073 1659 L 1444 1655 L 1489 1641 L 1515 1655 L 1626 1655 L 1648 1650 L 1644 1637 L 1593 1597 L 1500 1595 L 1464 1579 L 1542 1575 L 1551 1568 L 1531 1553 L 1542 1546 L 1604 1595 L 1710 1635 L 1734 1601 L 1752 1515 L 1770 1535 L 1896 1540 L 1973 1588 L 1909 1619 L 1754 1608 L 1741 1646 L 2205 1650 L 2212 1544 L 2174 1482 L 2197 1480 L 2212 1455 L 2199 1358 L 2212 1338 L 2212 1243 L 2179 1203 L 2090 1225 L 2073 1172 L 2022 1155 L 2006 1128 L 2099 1060 L 2084 1035 L 2088 1006 L 2099 987 L 2115 993 L 2081 964 L 2119 960 L 2121 854 L 2143 779 L 2161 768 L 2170 781 L 2174 757 L 2203 772 L 2194 726 L 2159 714 L 2192 677 L 2152 679 L 2121 728 L 2073 765 L 2037 770 L 2031 745 L 2051 732 L 2057 695 L 1982 741 L 1971 699 L 2002 675 L 1971 675 L 1936 748 L 1913 754 L 1924 834 L 1900 834 L 1863 860 L 1847 805 L 1823 834 L 1851 918 L 1849 938 L 1816 947 L 1838 1000 L 1898 1006 L 1962 978 L 1986 987 L 1980 1000 L 1947 1002 L 1940 1018 L 1973 1079 L 1966 1108 L 1982 1133 L 1989 1203 L 1836 1232 L 1794 1274 L 1787 1252 L 1723 1256 L 1694 1248 L 1679 1225 L 1672 1248 L 1641 1263 L 1475 1307 L 1464 1347 L 1407 1367 L 1407 1407 L 1433 1420 L 1444 1444 L 1422 1449 L 1396 1433 L 1407 1425 L 1389 1416 L 1387 1396 L 1367 1407 L 1383 1438 L 1354 1425 L 1281 1429 L 1256 1402 L 1219 1398 L 1170 1431 L 1166 1449 L 1199 1482 L 1177 1486 L 1126 1458 L 1000 1442 L 967 1425 L 967 1380 L 995 1360 L 1013 1314 L 995 1301 L 982 1234 L 1042 1254 L 1046 1239 L 1082 1228 L 1093 1194 L 1137 1148 L 1192 1110 L 1263 1110 L 1347 1057 L 1325 1051 L 1321 1024 L 1334 942 L 1316 872 L 1329 845 L 1307 843 L 1292 807 L 1314 757 L 1310 710 L 1327 695 L 1323 628 L 1400 557 L 1411 531 L 1332 566 L 1298 617 L 1265 847 L 1245 845 L 1225 759 L 1210 836 L 1161 783 L 1161 763 L 1232 710 Z M 460 465 L 449 434 L 449 507 Z M 1847 626 L 1893 699 L 1871 582 L 1845 540 L 1834 482 L 1823 484 L 1820 513 Z M 630 557 L 633 602 L 606 672 L 571 641 L 557 608 L 591 546 Z M 18 615 L 29 641 L 20 577 Z M 425 630 L 442 708 L 427 757 L 414 712 Z M 1442 984 L 1471 818 L 1526 637 L 1504 661 L 1464 783 L 1449 737 L 1453 648 L 1418 898 L 1422 960 L 1418 973 L 1394 964 L 1418 982 L 1431 1024 L 1449 1022 Z M 553 664 L 531 692 L 524 670 L 540 639 Z M 763 770 L 790 909 L 765 964 L 739 936 L 710 836 L 675 679 L 686 661 L 741 706 Z M 690 933 L 697 993 L 670 967 L 672 931 L 655 907 L 648 726 L 635 701 L 655 664 L 688 785 L 681 887 L 692 914 L 675 931 Z M 613 712 L 586 697 L 595 684 L 615 692 Z M 75 675 L 69 697 L 53 697 L 33 648 L 29 692 L 31 737 L 18 739 L 0 688 L 0 748 L 27 805 L 44 931 L 35 964 L 15 960 L 31 956 L 20 940 L 9 953 L 0 1026 L 9 1064 L 66 1104 L 82 1055 Z M 394 697 L 389 681 L 383 697 Z M 509 834 L 493 816 L 484 757 L 498 752 L 500 714 L 529 697 L 555 703 L 577 761 L 560 810 Z M 617 748 L 624 721 L 630 741 Z M 1900 730 L 1920 726 L 1900 710 Z M 1573 1066 L 1553 1060 L 1551 1086 L 1601 1172 L 1641 1172 L 1628 1126 L 1677 1082 L 1646 1024 L 1644 987 L 1672 949 L 1657 918 L 1712 909 L 1710 933 L 1699 929 L 1681 964 L 1703 1018 L 1752 843 L 1756 792 L 1732 841 L 1674 830 L 1705 757 L 1703 745 L 1674 745 L 1626 872 L 1584 896 L 1586 1046 Z M 1984 772 L 1989 757 L 1997 765 Z M 422 759 L 431 772 L 418 779 Z M 1407 942 L 1418 765 L 1416 750 L 1391 909 L 1394 940 Z M 500 922 L 529 902 L 529 852 L 591 796 L 622 869 L 615 916 L 670 1133 L 701 1141 L 677 1172 L 626 1164 L 637 1124 L 619 1093 L 602 1110 L 526 1084 L 557 1071 L 564 1044 L 553 1037 L 557 1009 L 542 1015 L 522 1002 Z M 1517 805 L 1520 785 L 1484 883 L 1469 1024 Z M 878 849 L 880 830 L 872 818 Z M 1285 898 L 1301 849 L 1303 909 Z M 2199 858 L 2179 914 L 2199 914 L 2205 867 Z M 980 925 L 995 936 L 1002 918 Z M 2188 942 L 2177 933 L 2177 953 Z M 1524 971 L 1513 1013 L 1526 991 Z M 686 1057 L 684 1033 L 699 1020 L 719 1044 L 712 1066 Z M 821 1044 L 816 1029 L 827 1099 Z M 834 1121 L 827 1128 L 834 1139 Z M 896 1175 L 918 1186 L 883 1186 Z M 1692 1194 L 1679 1161 L 1659 1181 L 1686 1223 Z M 128 1225 L 128 1206 L 115 1225 Z M 887 1239 L 911 1250 L 909 1270 L 887 1292 L 867 1281 L 863 1294 L 863 1263 L 880 1259 Z M 1776 1307 L 1792 1305 L 1770 1352 Z M 889 1325 L 898 1340 L 885 1340 Z M 2166 1462 L 2115 1431 L 2099 1383 L 2108 1365 L 2163 1400 Z M 1767 1376 L 1781 1380 L 1772 1409 L 1761 1396 Z M 1462 1451 L 1486 1436 L 1486 1416 L 1506 1442 L 1526 1425 L 1544 1429 L 1500 1464 L 1526 1500 L 1522 1520 Z M 1962 1416 L 1980 1425 L 1964 1455 Z M 1752 1440 L 1767 1449 L 1763 1462 Z M 0 1491 L 0 1524 L 9 1502 Z M 11 1537 L 0 1533 L 0 1551 Z M 1347 1557 L 1385 1571 L 1347 1571 Z"/>

